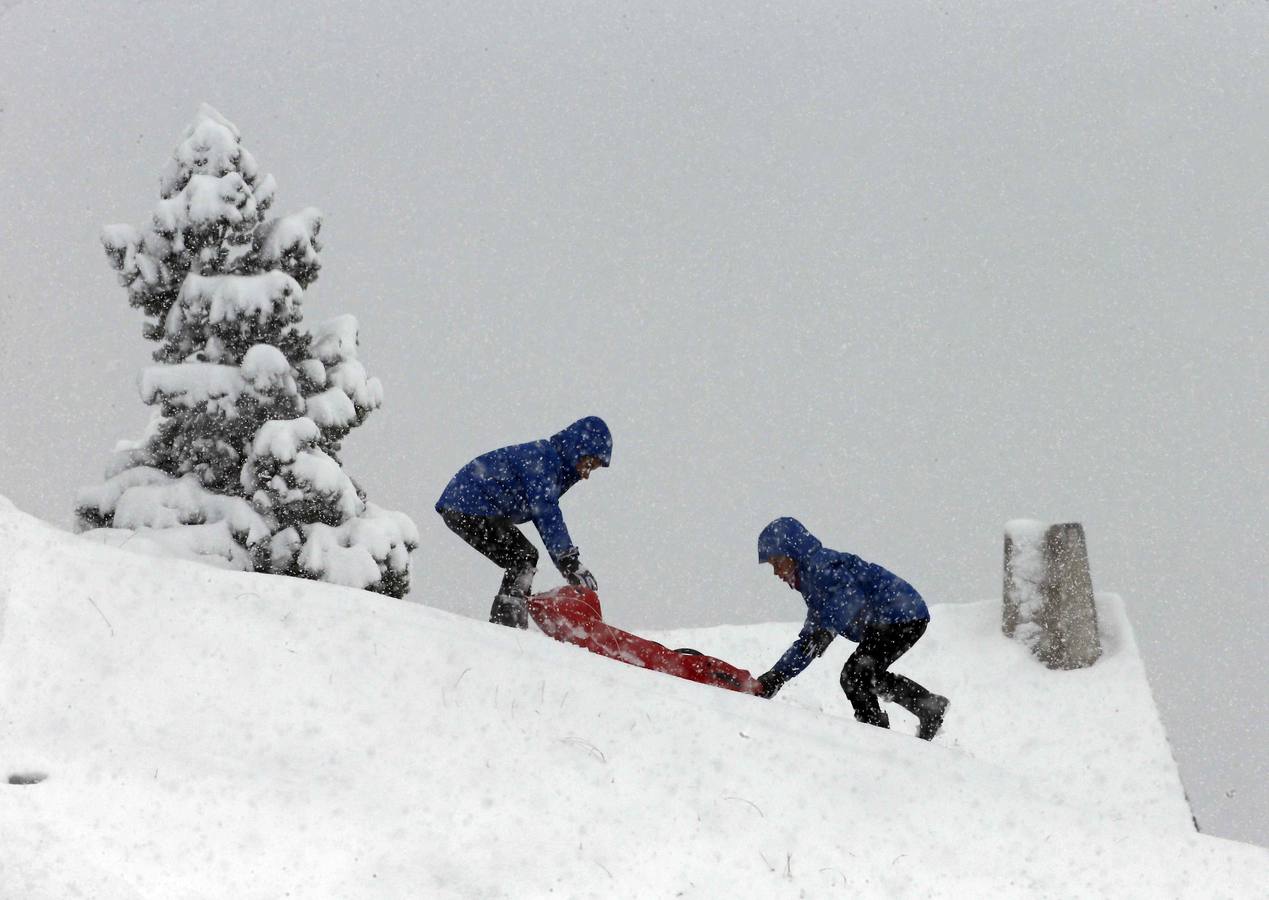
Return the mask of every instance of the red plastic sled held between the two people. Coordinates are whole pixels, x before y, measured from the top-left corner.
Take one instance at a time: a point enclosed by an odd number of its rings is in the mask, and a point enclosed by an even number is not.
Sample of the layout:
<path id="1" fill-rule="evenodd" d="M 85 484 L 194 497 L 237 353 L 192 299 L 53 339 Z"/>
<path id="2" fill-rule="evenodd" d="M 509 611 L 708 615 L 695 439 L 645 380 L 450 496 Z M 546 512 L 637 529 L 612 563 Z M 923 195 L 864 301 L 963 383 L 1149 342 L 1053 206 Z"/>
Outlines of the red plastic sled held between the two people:
<path id="1" fill-rule="evenodd" d="M 742 694 L 758 694 L 761 684 L 745 669 L 697 650 L 670 650 L 662 644 L 604 622 L 594 590 L 565 585 L 529 598 L 529 614 L 538 627 L 565 644 L 615 659 L 641 669 L 664 672 L 689 682 L 713 684 Z"/>

